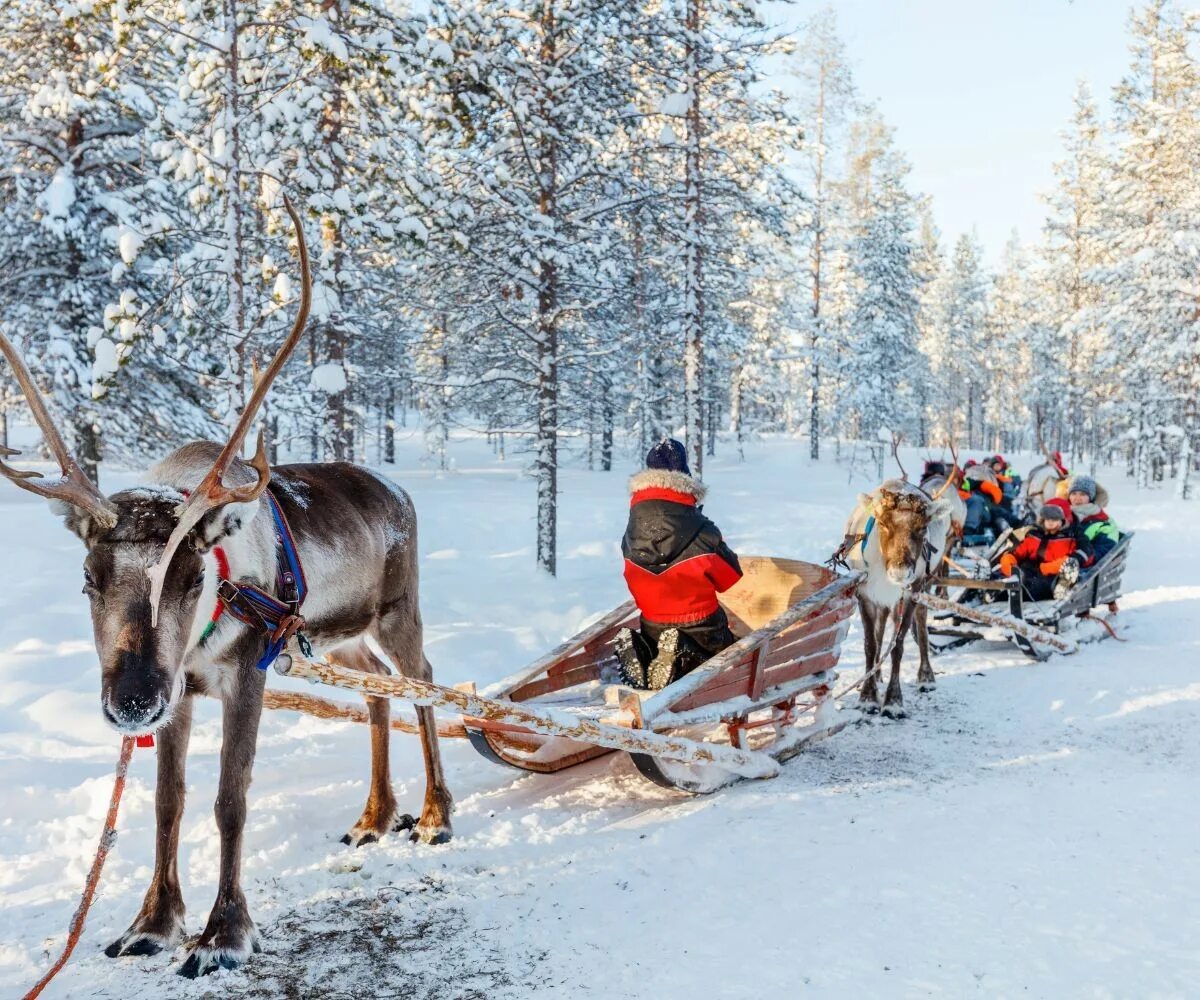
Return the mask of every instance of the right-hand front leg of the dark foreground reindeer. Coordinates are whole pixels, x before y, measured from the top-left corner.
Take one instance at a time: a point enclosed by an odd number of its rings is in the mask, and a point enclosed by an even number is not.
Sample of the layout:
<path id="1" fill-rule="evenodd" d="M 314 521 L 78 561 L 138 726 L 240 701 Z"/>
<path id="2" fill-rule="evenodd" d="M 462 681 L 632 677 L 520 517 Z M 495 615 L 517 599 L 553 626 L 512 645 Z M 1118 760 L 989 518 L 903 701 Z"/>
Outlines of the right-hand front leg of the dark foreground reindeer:
<path id="1" fill-rule="evenodd" d="M 208 926 L 179 970 L 188 978 L 234 969 L 262 950 L 241 891 L 241 842 L 264 683 L 262 671 L 241 664 L 233 689 L 222 699 L 221 780 L 214 810 L 221 834 L 221 878 Z"/>

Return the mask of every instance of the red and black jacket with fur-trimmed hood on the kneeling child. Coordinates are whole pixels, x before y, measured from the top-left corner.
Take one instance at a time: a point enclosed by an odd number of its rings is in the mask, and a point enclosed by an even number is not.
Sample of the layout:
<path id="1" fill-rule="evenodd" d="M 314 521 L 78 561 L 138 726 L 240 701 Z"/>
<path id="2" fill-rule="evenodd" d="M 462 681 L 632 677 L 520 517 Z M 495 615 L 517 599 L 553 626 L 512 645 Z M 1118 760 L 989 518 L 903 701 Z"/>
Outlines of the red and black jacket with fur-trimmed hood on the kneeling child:
<path id="1" fill-rule="evenodd" d="M 738 557 L 700 511 L 703 487 L 683 473 L 647 471 L 631 484 L 622 539 L 625 582 L 642 617 L 684 625 L 718 609 L 716 595 L 742 579 Z"/>

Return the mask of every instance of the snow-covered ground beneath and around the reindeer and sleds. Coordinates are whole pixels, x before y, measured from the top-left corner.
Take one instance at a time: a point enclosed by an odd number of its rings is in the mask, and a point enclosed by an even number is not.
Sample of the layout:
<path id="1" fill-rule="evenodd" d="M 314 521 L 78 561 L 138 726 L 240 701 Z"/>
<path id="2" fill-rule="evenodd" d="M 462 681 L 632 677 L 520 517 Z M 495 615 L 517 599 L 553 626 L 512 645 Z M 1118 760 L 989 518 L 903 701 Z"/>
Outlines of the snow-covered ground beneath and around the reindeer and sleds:
<path id="1" fill-rule="evenodd" d="M 420 516 L 438 679 L 497 679 L 623 599 L 631 469 L 564 472 L 551 580 L 533 567 L 520 461 L 460 442 L 458 471 L 437 474 L 415 438 L 404 444 L 394 475 Z M 821 561 L 835 547 L 870 484 L 811 466 L 805 448 L 761 443 L 744 465 L 713 465 L 707 511 L 737 550 Z M 190 983 L 173 975 L 182 951 L 101 953 L 150 875 L 154 761 L 138 752 L 86 933 L 46 995 L 1194 996 L 1200 523 L 1165 491 L 1104 480 L 1117 520 L 1139 532 L 1126 643 L 1043 664 L 998 645 L 947 654 L 936 693 L 906 683 L 908 719 L 852 725 L 770 782 L 691 798 L 619 755 L 518 777 L 448 742 L 454 843 L 355 851 L 337 838 L 365 796 L 365 729 L 270 713 L 245 856 L 265 951 L 245 970 Z M 62 942 L 116 738 L 97 705 L 78 543 L 11 486 L 0 525 L 0 994 L 11 996 Z M 842 670 L 860 669 L 856 629 Z M 216 703 L 202 703 L 180 862 L 192 932 L 215 892 L 220 736 Z M 397 735 L 392 761 L 415 812 L 416 741 Z"/>

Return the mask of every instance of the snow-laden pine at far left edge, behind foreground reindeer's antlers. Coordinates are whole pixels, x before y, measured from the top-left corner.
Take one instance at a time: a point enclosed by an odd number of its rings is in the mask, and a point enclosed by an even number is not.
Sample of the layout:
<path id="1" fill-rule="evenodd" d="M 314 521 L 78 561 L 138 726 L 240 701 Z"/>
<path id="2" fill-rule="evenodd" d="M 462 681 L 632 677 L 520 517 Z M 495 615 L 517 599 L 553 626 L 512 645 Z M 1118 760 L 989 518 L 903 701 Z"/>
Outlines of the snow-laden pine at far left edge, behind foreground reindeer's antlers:
<path id="1" fill-rule="evenodd" d="M 6 5 L 0 30 L 5 330 L 96 478 L 106 454 L 145 462 L 209 426 L 194 381 L 160 355 L 166 335 L 140 322 L 176 250 L 166 239 L 140 253 L 174 210 L 145 169 L 168 72 L 121 5 Z M 138 377 L 119 378 L 131 360 Z"/>

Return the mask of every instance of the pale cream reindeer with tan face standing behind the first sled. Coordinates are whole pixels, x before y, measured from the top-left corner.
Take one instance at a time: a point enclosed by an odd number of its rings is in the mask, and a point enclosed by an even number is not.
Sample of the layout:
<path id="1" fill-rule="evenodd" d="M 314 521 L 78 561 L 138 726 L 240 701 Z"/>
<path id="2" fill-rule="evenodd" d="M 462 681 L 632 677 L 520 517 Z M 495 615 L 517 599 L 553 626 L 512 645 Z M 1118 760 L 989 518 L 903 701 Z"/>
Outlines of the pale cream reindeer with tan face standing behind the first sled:
<path id="1" fill-rule="evenodd" d="M 872 493 L 859 495 L 858 507 L 846 525 L 846 540 L 835 558 L 845 558 L 851 567 L 866 571 L 858 588 L 866 660 L 859 705 L 869 713 L 882 711 L 898 719 L 906 714 L 900 660 L 914 615 L 920 652 L 917 682 L 923 691 L 937 684 L 929 661 L 928 612 L 908 595 L 924 587 L 941 565 L 949 540 L 950 511 L 949 502 L 941 496 L 930 496 L 902 479 L 889 479 Z M 889 615 L 894 636 L 892 676 L 881 703 L 876 675 L 882 665 Z"/>

